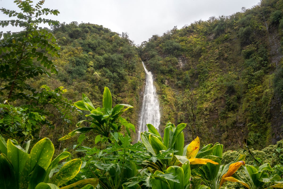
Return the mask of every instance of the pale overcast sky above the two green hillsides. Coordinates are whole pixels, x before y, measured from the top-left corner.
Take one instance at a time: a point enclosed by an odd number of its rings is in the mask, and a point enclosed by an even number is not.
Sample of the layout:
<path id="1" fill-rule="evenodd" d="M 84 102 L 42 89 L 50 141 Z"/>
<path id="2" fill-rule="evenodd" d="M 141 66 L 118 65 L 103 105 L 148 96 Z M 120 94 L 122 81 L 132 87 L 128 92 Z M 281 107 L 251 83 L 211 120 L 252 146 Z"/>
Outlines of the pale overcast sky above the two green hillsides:
<path id="1" fill-rule="evenodd" d="M 0 0 L 0 7 L 17 10 L 13 2 Z M 103 25 L 120 34 L 127 32 L 135 44 L 141 44 L 174 26 L 180 29 L 211 16 L 229 16 L 241 12 L 242 7 L 249 9 L 258 3 L 260 0 L 46 0 L 42 8 L 60 12 L 58 16 L 44 18 L 67 24 L 77 21 Z M 11 18 L 0 12 L 0 20 L 8 19 Z M 0 27 L 0 31 L 10 30 L 17 29 Z"/>

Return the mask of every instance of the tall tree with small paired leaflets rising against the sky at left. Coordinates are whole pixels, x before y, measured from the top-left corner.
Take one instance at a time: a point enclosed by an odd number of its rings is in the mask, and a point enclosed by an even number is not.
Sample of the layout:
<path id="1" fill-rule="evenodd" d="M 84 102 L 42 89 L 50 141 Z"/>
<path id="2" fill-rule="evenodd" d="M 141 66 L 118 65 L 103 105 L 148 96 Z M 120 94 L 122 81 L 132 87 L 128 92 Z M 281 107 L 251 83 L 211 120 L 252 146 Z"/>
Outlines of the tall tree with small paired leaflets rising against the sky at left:
<path id="1" fill-rule="evenodd" d="M 38 27 L 40 23 L 58 25 L 59 22 L 40 18 L 40 16 L 59 13 L 58 10 L 50 10 L 41 7 L 44 3 L 39 1 L 35 6 L 33 1 L 14 1 L 22 12 L 0 9 L 9 17 L 16 20 L 1 20 L 2 27 L 12 25 L 23 27 L 22 32 L 0 32 L 0 95 L 9 100 L 26 98 L 24 90 L 35 92 L 26 82 L 27 79 L 39 74 L 50 75 L 44 68 L 57 73 L 56 67 L 50 60 L 53 56 L 59 56 L 60 47 L 56 44 L 55 37 L 46 29 Z M 16 92 L 20 90 L 20 92 Z"/>

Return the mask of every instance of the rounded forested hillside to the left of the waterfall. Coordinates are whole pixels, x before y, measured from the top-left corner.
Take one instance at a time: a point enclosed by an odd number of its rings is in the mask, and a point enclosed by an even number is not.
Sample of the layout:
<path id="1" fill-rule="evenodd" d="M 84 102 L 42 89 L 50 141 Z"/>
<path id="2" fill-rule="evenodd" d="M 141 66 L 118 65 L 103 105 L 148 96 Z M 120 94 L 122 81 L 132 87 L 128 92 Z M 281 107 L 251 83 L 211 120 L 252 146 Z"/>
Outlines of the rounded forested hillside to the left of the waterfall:
<path id="1" fill-rule="evenodd" d="M 61 46 L 61 56 L 53 60 L 58 74 L 51 77 L 42 75 L 31 80 L 30 85 L 34 88 L 47 85 L 51 90 L 64 86 L 64 97 L 72 102 L 82 100 L 82 93 L 85 93 L 95 107 L 102 107 L 102 94 L 106 86 L 112 93 L 113 104 L 134 107 L 123 117 L 136 126 L 145 75 L 136 47 L 127 33 L 119 35 L 103 26 L 76 22 L 53 26 L 52 33 Z M 57 139 L 74 130 L 75 124 L 85 119 L 85 113 L 74 113 L 72 124 L 61 121 L 62 117 L 56 118 L 55 115 L 51 119 L 55 129 L 42 126 L 40 137 L 49 137 L 57 148 L 72 146 L 76 141 L 63 141 L 65 145 L 61 146 Z M 85 142 L 93 145 L 95 136 L 86 137 L 89 140 Z"/>

